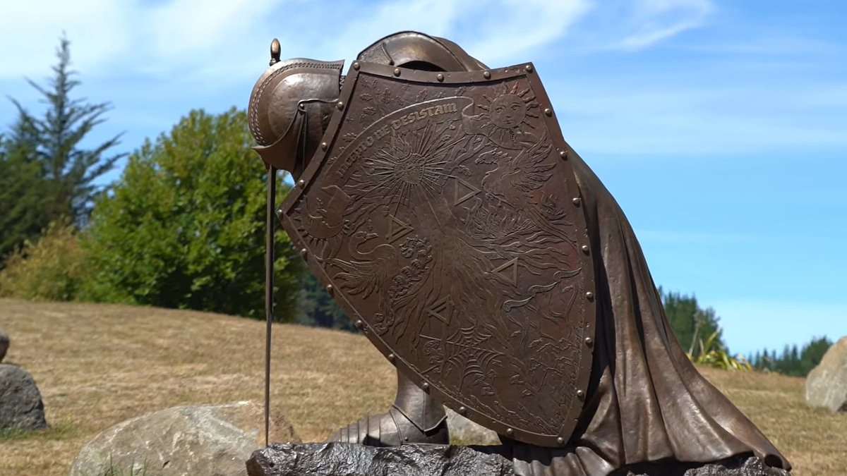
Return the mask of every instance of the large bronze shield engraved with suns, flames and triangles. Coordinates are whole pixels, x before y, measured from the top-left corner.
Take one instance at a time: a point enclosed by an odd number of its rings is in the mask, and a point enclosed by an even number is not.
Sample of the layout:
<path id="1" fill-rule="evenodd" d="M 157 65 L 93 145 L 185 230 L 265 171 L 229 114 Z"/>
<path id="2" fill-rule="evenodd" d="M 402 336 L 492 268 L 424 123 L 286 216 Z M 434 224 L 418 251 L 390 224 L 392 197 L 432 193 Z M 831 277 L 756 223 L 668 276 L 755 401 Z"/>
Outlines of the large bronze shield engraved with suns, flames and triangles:
<path id="1" fill-rule="evenodd" d="M 355 63 L 280 208 L 379 351 L 515 440 L 567 443 L 594 335 L 577 182 L 531 64 L 434 73 Z"/>

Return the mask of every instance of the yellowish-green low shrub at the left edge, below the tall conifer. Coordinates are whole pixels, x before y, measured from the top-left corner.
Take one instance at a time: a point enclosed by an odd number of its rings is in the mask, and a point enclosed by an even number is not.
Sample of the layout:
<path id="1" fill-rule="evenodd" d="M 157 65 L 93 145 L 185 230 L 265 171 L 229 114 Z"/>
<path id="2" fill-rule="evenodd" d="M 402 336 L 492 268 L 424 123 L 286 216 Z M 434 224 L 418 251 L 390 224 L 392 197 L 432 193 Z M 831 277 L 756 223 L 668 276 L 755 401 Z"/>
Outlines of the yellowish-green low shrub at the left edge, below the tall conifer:
<path id="1" fill-rule="evenodd" d="M 75 226 L 62 220 L 7 258 L 0 271 L 0 296 L 73 301 L 79 299 L 85 278 L 86 251 Z"/>

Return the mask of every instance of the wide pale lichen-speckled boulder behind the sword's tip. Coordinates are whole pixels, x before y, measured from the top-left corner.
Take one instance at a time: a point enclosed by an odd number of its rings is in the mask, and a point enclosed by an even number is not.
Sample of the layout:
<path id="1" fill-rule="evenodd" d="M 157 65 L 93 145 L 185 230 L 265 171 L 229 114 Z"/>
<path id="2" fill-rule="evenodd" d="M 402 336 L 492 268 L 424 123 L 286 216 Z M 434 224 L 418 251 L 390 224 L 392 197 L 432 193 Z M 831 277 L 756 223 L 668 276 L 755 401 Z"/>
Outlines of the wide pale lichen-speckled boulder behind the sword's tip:
<path id="1" fill-rule="evenodd" d="M 291 424 L 273 412 L 270 440 L 300 441 Z M 264 411 L 252 401 L 173 407 L 97 434 L 76 456 L 70 476 L 243 475 L 247 458 L 263 446 Z"/>

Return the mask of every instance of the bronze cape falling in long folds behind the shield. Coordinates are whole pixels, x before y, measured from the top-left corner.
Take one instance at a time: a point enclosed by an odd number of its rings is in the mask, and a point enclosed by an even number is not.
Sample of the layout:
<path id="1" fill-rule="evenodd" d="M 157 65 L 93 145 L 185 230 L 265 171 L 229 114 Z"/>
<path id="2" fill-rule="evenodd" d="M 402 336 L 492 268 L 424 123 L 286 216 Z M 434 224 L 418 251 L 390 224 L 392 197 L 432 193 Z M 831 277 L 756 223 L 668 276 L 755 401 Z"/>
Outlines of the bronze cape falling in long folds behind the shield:
<path id="1" fill-rule="evenodd" d="M 641 462 L 715 462 L 753 454 L 789 462 L 690 363 L 667 323 L 632 227 L 600 179 L 576 154 L 597 289 L 596 345 L 573 446 L 516 443 L 518 474 L 595 476 Z"/>

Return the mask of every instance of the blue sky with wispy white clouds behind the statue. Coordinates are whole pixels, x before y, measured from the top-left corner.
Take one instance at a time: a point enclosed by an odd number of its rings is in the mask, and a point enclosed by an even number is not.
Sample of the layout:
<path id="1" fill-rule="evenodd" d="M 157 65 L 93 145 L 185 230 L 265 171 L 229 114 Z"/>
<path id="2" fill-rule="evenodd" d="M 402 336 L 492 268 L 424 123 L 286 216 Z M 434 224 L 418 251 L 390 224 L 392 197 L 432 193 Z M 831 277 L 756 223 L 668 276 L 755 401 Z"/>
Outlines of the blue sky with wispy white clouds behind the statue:
<path id="1" fill-rule="evenodd" d="M 348 65 L 396 30 L 533 61 L 656 283 L 714 307 L 747 353 L 847 335 L 845 23 L 847 4 L 814 0 L 4 2 L 0 93 L 37 110 L 24 78 L 49 75 L 64 30 L 80 94 L 113 103 L 92 141 L 125 131 L 130 152 L 191 108 L 244 107 L 274 36 Z"/>

